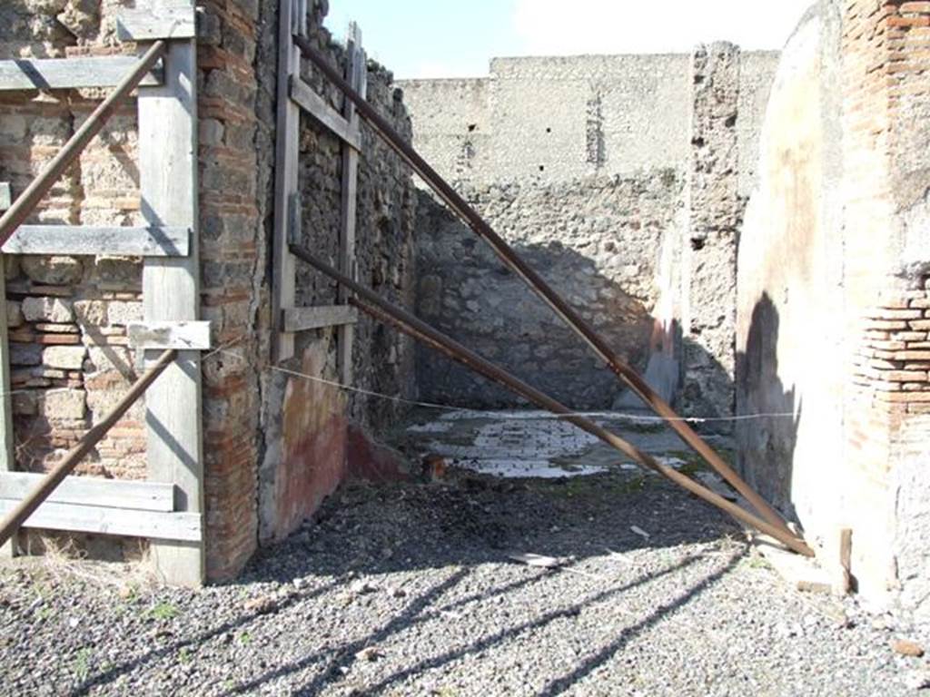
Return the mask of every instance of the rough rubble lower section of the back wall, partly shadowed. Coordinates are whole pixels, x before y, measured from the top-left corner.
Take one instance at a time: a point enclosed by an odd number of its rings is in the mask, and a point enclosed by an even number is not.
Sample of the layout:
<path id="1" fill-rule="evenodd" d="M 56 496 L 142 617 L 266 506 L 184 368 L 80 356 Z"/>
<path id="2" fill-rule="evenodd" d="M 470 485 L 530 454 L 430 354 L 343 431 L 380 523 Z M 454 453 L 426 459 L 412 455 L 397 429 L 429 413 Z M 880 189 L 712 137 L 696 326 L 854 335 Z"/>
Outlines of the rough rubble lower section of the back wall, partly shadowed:
<path id="1" fill-rule="evenodd" d="M 676 224 L 683 182 L 582 178 L 469 188 L 468 199 L 611 348 L 643 368 L 658 301 L 658 255 Z M 471 230 L 421 194 L 419 315 L 573 408 L 606 408 L 616 378 Z M 517 403 L 430 349 L 419 351 L 420 395 L 480 407 Z"/>

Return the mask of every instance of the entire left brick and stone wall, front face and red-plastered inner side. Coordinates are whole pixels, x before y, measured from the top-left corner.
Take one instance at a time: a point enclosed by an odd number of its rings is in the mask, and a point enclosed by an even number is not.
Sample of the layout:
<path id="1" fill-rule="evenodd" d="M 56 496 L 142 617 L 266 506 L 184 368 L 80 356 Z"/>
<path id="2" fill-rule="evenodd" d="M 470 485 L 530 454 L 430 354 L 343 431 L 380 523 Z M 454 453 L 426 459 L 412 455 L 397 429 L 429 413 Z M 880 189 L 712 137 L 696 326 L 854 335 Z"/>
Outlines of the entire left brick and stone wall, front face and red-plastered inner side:
<path id="1" fill-rule="evenodd" d="M 4 3 L 0 58 L 135 53 L 135 46 L 120 44 L 115 36 L 118 11 L 133 5 L 128 0 Z M 342 49 L 319 26 L 326 3 L 311 5 L 318 42 L 339 63 Z M 218 348 L 203 363 L 206 563 L 209 578 L 221 579 L 235 575 L 259 545 L 259 518 L 261 537 L 273 538 L 309 515 L 353 465 L 350 451 L 384 459 L 367 442 L 365 429 L 390 423 L 397 405 L 347 399 L 339 390 L 278 370 L 335 378 L 330 331 L 301 335 L 296 361 L 270 362 L 278 2 L 205 0 L 198 7 L 201 314 L 211 322 Z M 341 107 L 331 87 L 310 74 L 307 78 Z M 369 98 L 409 133 L 404 106 L 390 83 L 390 73 L 369 64 Z M 0 181 L 10 181 L 14 195 L 22 191 L 102 94 L 3 93 Z M 309 121 L 302 126 L 305 243 L 332 256 L 338 236 L 338 143 Z M 142 224 L 137 158 L 135 104 L 129 101 L 33 219 Z M 367 131 L 359 196 L 359 273 L 365 283 L 410 305 L 415 197 L 405 168 Z M 141 263 L 111 257 L 6 261 L 17 463 L 43 470 L 137 376 L 125 328 L 140 319 Z M 300 270 L 299 303 L 332 298 L 330 284 Z M 355 384 L 412 394 L 409 342 L 366 320 L 355 336 Z M 315 438 L 321 431 L 326 436 Z M 339 447 L 329 447 L 333 443 Z M 79 472 L 142 479 L 145 444 L 140 402 Z"/>

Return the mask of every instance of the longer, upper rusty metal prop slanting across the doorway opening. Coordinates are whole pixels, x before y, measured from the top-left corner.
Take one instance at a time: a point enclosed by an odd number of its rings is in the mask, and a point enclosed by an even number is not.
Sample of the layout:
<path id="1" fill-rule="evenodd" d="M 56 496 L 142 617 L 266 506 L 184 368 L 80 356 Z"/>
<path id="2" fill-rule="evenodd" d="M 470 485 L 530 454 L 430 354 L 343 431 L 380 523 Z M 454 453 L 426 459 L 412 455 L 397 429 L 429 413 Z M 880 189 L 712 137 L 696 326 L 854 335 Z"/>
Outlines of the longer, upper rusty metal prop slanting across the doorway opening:
<path id="1" fill-rule="evenodd" d="M 343 79 L 342 75 L 326 62 L 326 59 L 313 48 L 306 38 L 294 36 L 294 44 L 299 47 L 304 57 L 310 59 L 313 65 L 326 75 L 326 78 L 330 82 L 338 86 L 345 96 L 352 101 L 359 115 L 365 119 L 365 122 L 370 125 L 376 133 L 378 133 L 380 138 L 404 159 L 406 164 L 410 165 L 419 177 L 445 201 L 445 204 L 448 205 L 458 217 L 461 217 L 479 237 L 490 244 L 501 261 L 522 278 L 525 283 L 527 283 L 530 288 L 576 332 L 576 334 L 584 339 L 591 349 L 607 363 L 610 369 L 618 375 L 619 379 L 626 384 L 627 387 L 631 388 L 631 390 L 656 414 L 664 418 L 675 433 L 693 448 L 697 454 L 703 457 L 724 480 L 727 480 L 733 488 L 737 490 L 737 492 L 741 493 L 764 519 L 783 533 L 791 534 L 785 521 L 777 513 L 775 508 L 769 506 L 762 496 L 755 493 L 750 485 L 742 480 L 737 472 L 727 465 L 723 458 L 716 454 L 711 446 L 701 439 L 692 427 L 688 426 L 678 414 L 675 414 L 671 406 L 659 397 L 645 380 L 640 377 L 640 375 L 637 375 L 636 371 L 619 359 L 613 349 L 610 349 L 604 339 L 594 331 L 591 324 L 585 322 L 575 309 L 568 305 L 561 296 L 552 290 L 550 285 L 543 281 L 542 277 L 518 256 L 508 243 L 504 242 L 498 233 L 485 222 L 485 219 L 459 196 L 445 179 L 440 177 L 430 164 L 405 142 L 404 138 L 401 138 L 392 128 L 392 125 L 376 112 L 358 92 L 352 89 L 352 85 L 349 85 L 345 79 Z"/>

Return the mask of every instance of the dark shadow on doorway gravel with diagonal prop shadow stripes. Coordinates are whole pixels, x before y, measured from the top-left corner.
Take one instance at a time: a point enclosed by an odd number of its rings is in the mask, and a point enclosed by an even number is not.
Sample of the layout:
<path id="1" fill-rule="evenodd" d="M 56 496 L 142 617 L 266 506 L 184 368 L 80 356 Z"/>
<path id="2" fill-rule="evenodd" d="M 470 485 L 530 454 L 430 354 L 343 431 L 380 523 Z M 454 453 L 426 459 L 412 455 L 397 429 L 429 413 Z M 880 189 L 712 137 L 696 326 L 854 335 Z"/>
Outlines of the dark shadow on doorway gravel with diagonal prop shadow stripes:
<path id="1" fill-rule="evenodd" d="M 377 521 L 374 522 L 373 521 Z M 645 539 L 631 531 L 649 531 Z M 418 569 L 453 569 L 445 580 L 405 602 L 387 623 L 352 641 L 312 651 L 298 661 L 281 665 L 236 686 L 229 693 L 251 694 L 288 675 L 314 666 L 314 677 L 296 693 L 316 695 L 339 684 L 341 668 L 366 647 L 379 646 L 412 627 L 435 622 L 456 608 L 472 603 L 506 602 L 526 586 L 549 583 L 557 574 L 527 569 L 528 575 L 495 585 L 483 592 L 440 603 L 445 594 L 469 581 L 472 570 L 489 563 L 507 563 L 508 553 L 544 554 L 574 564 L 590 556 L 619 554 L 640 548 L 680 547 L 719 540 L 736 533 L 728 519 L 689 498 L 661 480 L 603 475 L 579 480 L 521 483 L 471 475 L 456 485 L 399 485 L 396 488 L 350 488 L 327 502 L 312 527 L 281 546 L 262 553 L 275 563 L 258 559 L 251 573 L 262 580 L 285 582 L 304 574 L 333 574 L 347 579 Z M 543 694 L 557 694 L 587 676 L 638 634 L 724 576 L 741 554 L 731 554 L 725 566 L 711 572 L 681 595 L 660 605 L 644 620 L 624 629 L 618 638 L 584 658 L 569 675 L 553 681 Z M 558 609 L 539 609 L 531 621 L 508 625 L 463 647 L 405 665 L 359 694 L 378 694 L 405 679 L 442 669 L 458 659 L 493 651 L 521 636 L 533 635 L 551 623 L 577 617 L 580 612 L 660 578 L 691 567 L 700 555 L 689 555 L 664 569 L 644 572 L 623 585 L 607 583 L 588 597 Z M 268 576 L 267 572 L 276 573 Z M 266 572 L 266 575 L 262 575 Z M 251 575 L 250 573 L 250 575 Z M 338 612 L 338 611 L 336 611 Z M 469 612 L 466 610 L 465 612 Z"/>

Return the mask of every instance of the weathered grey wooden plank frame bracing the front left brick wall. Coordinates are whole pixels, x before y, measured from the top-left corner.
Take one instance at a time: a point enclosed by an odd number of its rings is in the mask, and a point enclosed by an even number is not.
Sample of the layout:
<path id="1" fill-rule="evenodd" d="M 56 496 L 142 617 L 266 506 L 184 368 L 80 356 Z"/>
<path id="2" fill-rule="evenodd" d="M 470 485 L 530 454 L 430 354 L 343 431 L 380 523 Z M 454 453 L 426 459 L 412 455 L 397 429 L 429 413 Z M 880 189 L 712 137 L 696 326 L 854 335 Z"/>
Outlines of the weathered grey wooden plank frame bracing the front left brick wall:
<path id="1" fill-rule="evenodd" d="M 205 577 L 201 424 L 201 350 L 209 323 L 199 319 L 196 15 L 189 0 L 126 10 L 120 38 L 143 49 L 132 56 L 0 61 L 0 90 L 113 87 L 113 93 L 28 189 L 11 201 L 0 185 L 4 255 L 143 257 L 143 322 L 127 327 L 130 346 L 152 367 L 126 396 L 144 392 L 147 480 L 66 477 L 118 420 L 118 409 L 90 429 L 46 477 L 16 471 L 6 312 L 0 312 L 0 513 L 19 511 L 25 527 L 147 537 L 155 571 L 170 584 Z M 35 204 L 86 148 L 118 100 L 138 88 L 139 177 L 145 227 L 22 225 Z M 6 194 L 6 195 L 4 195 Z M 6 201 L 4 201 L 6 199 Z M 0 307 L 6 303 L 0 263 Z M 157 377 L 157 380 L 155 379 Z M 151 385 L 151 387 L 149 387 Z M 130 398 L 131 401 L 130 401 Z M 53 481 L 58 476 L 60 485 Z M 46 503 L 28 504 L 45 489 Z M 40 497 L 41 499 L 42 497 Z M 41 504 L 41 506 L 39 506 Z M 34 511 L 34 512 L 33 512 Z M 28 515 L 27 515 L 28 514 Z M 5 526 L 6 527 L 6 526 Z M 15 530 L 17 526 L 13 527 Z M 15 539 L 4 547 L 15 554 Z"/>

